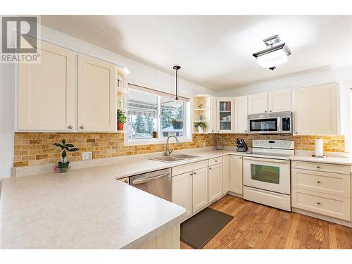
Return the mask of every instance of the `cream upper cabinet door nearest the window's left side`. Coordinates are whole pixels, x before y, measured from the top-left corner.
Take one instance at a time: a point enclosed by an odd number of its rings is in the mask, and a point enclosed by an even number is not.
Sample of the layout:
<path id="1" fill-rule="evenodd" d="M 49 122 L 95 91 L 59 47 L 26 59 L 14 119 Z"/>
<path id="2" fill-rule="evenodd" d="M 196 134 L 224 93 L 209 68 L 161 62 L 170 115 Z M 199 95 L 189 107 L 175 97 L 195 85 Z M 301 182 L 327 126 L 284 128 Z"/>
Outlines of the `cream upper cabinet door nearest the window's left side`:
<path id="1" fill-rule="evenodd" d="M 78 130 L 116 130 L 116 68 L 87 56 L 78 56 Z"/>

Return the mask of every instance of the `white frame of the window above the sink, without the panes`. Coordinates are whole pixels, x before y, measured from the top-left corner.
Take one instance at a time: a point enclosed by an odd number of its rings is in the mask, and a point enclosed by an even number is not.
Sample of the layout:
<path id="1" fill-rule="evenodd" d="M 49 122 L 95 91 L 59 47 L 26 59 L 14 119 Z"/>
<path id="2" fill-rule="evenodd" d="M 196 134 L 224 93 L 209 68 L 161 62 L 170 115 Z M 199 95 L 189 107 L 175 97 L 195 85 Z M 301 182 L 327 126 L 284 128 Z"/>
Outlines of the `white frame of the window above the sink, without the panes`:
<path id="1" fill-rule="evenodd" d="M 127 110 L 128 110 L 128 89 L 133 89 L 133 88 L 128 87 L 129 83 L 136 85 L 136 86 L 144 87 L 145 89 L 149 89 L 150 94 L 154 94 L 154 95 L 158 96 L 158 116 L 157 116 L 157 119 L 158 119 L 158 138 L 156 138 L 156 139 L 129 139 L 128 132 L 125 132 L 125 137 L 124 137 L 125 138 L 125 140 L 124 140 L 125 146 L 165 144 L 166 140 L 168 138 L 163 137 L 163 135 L 161 134 L 161 96 L 163 96 L 162 94 L 164 94 L 164 96 L 170 96 L 170 94 L 165 93 L 165 92 L 161 92 L 161 89 L 149 88 L 150 86 L 146 86 L 145 84 L 139 84 L 139 83 L 132 82 L 132 81 L 126 81 L 125 87 L 127 87 L 127 96 L 126 96 Z M 153 90 L 157 91 L 158 93 L 153 93 Z M 128 123 L 126 125 L 128 126 Z M 191 101 L 189 100 L 189 101 L 185 101 L 185 103 L 184 103 L 184 134 L 185 135 L 184 135 L 184 137 L 177 137 L 177 139 L 179 139 L 180 142 L 192 142 L 191 125 L 192 125 L 192 122 L 191 122 Z M 174 138 L 170 139 L 170 142 L 174 143 L 175 139 Z"/>

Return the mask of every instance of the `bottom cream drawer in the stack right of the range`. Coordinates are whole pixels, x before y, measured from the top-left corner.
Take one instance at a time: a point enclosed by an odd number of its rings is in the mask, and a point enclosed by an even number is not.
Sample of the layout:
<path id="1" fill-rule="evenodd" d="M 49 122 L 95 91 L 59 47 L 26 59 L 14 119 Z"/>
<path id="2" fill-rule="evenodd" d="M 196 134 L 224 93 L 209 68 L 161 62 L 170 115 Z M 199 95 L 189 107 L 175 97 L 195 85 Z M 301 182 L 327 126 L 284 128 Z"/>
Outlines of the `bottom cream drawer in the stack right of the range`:
<path id="1" fill-rule="evenodd" d="M 293 188 L 292 207 L 350 220 L 350 199 L 346 197 Z"/>

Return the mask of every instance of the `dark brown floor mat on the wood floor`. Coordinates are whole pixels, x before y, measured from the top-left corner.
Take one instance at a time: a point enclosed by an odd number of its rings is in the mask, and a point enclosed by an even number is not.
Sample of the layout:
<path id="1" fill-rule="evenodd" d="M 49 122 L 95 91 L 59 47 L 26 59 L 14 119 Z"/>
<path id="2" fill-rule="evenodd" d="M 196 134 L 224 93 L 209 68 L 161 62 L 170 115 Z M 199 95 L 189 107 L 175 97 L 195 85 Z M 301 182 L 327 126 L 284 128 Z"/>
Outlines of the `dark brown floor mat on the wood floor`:
<path id="1" fill-rule="evenodd" d="M 232 218 L 232 215 L 205 208 L 182 222 L 181 241 L 193 249 L 202 249 Z"/>

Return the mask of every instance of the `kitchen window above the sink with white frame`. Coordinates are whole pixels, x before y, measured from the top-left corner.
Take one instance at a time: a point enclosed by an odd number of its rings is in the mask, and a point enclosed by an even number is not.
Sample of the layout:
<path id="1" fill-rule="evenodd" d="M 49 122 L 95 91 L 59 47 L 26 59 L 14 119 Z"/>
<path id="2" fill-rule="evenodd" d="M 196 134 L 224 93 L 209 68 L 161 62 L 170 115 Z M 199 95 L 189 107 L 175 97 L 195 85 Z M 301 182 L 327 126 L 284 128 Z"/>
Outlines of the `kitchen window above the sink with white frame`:
<path id="1" fill-rule="evenodd" d="M 175 101 L 172 94 L 134 84 L 127 96 L 125 144 L 156 144 L 171 135 L 190 141 L 189 99 Z"/>

